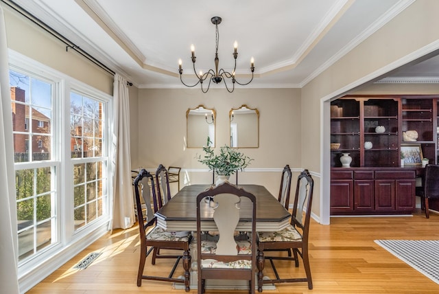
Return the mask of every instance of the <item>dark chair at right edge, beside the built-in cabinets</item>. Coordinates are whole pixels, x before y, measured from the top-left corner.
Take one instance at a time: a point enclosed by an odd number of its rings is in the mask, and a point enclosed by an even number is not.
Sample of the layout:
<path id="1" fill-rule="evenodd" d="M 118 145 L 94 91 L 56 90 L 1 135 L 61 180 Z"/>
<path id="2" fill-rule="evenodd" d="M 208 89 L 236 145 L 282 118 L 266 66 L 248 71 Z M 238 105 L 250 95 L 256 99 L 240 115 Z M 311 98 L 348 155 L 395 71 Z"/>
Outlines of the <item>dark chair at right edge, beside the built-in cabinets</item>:
<path id="1" fill-rule="evenodd" d="M 439 199 L 439 165 L 427 164 L 422 187 L 416 187 L 416 196 L 420 196 L 420 204 L 425 210 L 425 218 L 429 218 L 428 199 Z"/>

